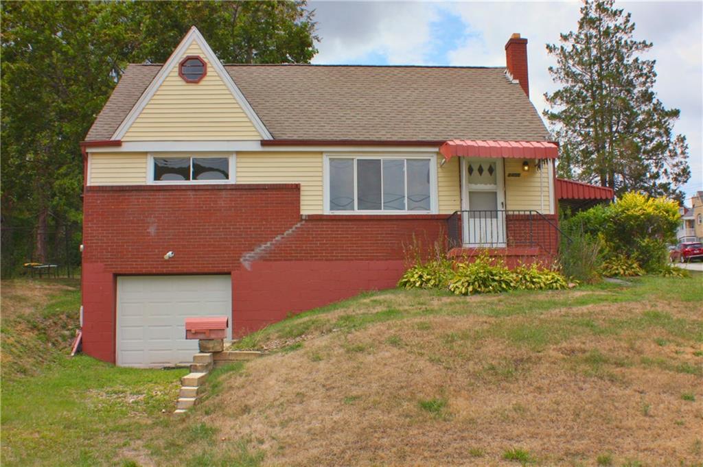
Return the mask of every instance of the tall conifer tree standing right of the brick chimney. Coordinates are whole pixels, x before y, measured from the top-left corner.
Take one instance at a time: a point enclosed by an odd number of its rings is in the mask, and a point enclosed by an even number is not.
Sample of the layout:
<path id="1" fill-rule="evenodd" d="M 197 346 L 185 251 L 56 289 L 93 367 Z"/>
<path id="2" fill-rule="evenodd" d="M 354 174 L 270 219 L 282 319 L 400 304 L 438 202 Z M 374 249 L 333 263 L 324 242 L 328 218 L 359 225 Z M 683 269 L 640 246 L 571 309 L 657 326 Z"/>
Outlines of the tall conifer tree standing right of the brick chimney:
<path id="1" fill-rule="evenodd" d="M 561 176 L 650 196 L 683 199 L 690 178 L 685 136 L 673 133 L 678 109 L 666 109 L 653 88 L 652 43 L 633 39 L 631 15 L 613 0 L 586 0 L 576 32 L 547 44 L 555 56 L 544 115 L 561 145 Z"/>

